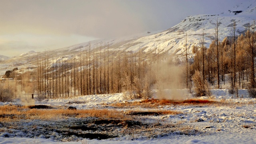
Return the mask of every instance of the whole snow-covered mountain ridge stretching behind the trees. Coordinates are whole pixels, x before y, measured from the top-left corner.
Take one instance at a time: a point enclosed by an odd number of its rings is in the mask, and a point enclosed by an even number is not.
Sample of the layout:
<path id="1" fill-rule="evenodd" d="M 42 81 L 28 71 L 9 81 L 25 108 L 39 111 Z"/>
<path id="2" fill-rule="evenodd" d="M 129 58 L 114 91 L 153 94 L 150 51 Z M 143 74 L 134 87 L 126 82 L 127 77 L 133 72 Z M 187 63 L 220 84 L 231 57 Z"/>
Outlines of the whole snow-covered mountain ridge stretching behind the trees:
<path id="1" fill-rule="evenodd" d="M 144 32 L 143 34 L 123 38 L 94 40 L 90 42 L 90 48 L 95 51 L 108 47 L 110 51 L 168 52 L 179 56 L 185 43 L 186 33 L 190 52 L 191 46 L 199 45 L 203 31 L 205 33 L 206 46 L 208 47 L 213 40 L 217 20 L 220 23 L 220 40 L 230 36 L 230 29 L 234 21 L 237 24 L 237 34 L 245 32 L 245 27 L 250 25 L 253 20 L 256 20 L 256 0 L 242 1 L 240 4 L 235 4 L 232 9 L 224 10 L 219 14 L 188 16 L 179 24 L 162 32 Z M 88 47 L 89 42 L 84 42 L 58 50 L 50 50 L 47 57 L 54 58 L 57 61 L 67 57 L 71 59 L 80 54 L 80 50 L 86 50 Z M 31 51 L 5 60 L 4 63 L 10 63 L 9 66 L 11 67 L 11 65 L 36 64 L 36 60 L 37 53 Z"/>

